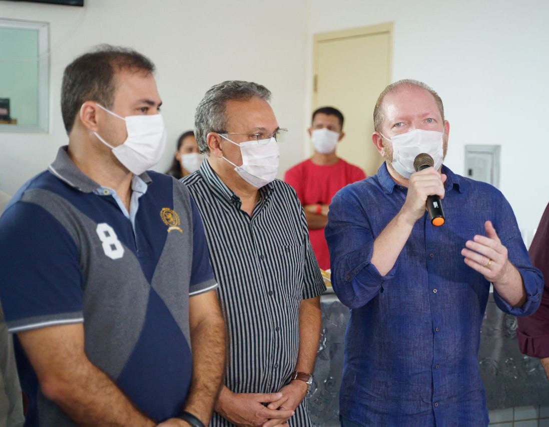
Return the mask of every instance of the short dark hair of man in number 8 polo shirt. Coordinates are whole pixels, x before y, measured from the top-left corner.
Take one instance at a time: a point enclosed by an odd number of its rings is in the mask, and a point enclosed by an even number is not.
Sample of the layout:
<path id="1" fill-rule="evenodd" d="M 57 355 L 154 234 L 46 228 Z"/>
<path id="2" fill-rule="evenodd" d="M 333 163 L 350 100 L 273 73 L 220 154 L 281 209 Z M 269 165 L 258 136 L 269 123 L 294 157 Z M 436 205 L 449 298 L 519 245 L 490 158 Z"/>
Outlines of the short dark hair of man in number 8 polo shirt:
<path id="1" fill-rule="evenodd" d="M 114 76 L 121 70 L 153 74 L 155 67 L 149 58 L 135 50 L 101 44 L 65 68 L 61 83 L 61 114 L 68 134 L 86 101 L 96 101 L 109 109 L 113 106 Z"/>

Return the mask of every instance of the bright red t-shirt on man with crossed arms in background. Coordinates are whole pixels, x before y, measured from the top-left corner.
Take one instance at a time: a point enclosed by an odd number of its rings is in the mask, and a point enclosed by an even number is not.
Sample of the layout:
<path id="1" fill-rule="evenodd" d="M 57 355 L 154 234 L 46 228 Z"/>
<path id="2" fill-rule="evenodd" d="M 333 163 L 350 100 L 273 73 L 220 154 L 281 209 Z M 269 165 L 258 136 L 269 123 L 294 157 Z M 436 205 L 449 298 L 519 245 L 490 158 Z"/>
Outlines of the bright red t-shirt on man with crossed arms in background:
<path id="1" fill-rule="evenodd" d="M 315 165 L 311 159 L 307 159 L 289 168 L 284 175 L 284 181 L 295 189 L 303 206 L 315 203 L 329 205 L 334 194 L 341 188 L 364 178 L 366 175 L 360 167 L 343 159 L 328 166 Z M 324 228 L 309 229 L 309 237 L 318 266 L 322 269 L 330 268 Z"/>

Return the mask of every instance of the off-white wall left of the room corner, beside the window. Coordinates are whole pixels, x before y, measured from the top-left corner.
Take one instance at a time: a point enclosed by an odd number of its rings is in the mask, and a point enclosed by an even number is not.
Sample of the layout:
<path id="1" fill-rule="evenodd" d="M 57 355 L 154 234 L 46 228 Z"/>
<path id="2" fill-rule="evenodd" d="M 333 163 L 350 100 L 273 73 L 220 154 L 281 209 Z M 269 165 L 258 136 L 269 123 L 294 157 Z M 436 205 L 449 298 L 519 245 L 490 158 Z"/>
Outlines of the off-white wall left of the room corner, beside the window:
<path id="1" fill-rule="evenodd" d="M 223 80 L 251 80 L 273 93 L 279 125 L 290 130 L 281 173 L 301 155 L 306 34 L 304 1 L 86 0 L 68 7 L 0 0 L 0 17 L 50 23 L 51 126 L 49 134 L 0 133 L 0 189 L 14 193 L 53 160 L 67 137 L 59 93 L 63 69 L 99 43 L 130 46 L 158 69 L 169 149 L 156 167 L 164 171 L 178 135 L 194 125 L 204 92 Z"/>

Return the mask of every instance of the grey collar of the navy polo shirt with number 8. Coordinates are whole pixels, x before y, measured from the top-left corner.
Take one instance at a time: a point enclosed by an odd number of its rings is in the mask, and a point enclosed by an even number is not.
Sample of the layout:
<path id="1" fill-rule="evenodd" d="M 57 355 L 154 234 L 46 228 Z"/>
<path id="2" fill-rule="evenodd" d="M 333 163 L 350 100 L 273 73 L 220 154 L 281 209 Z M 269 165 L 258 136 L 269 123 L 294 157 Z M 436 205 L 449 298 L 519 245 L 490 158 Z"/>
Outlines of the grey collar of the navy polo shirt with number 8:
<path id="1" fill-rule="evenodd" d="M 69 157 L 67 149 L 68 145 L 64 145 L 63 147 L 59 148 L 59 150 L 57 151 L 57 156 L 55 156 L 55 160 L 48 167 L 49 171 L 52 172 L 53 175 L 61 179 L 61 181 L 66 182 L 67 184 L 69 184 L 69 186 L 80 190 L 82 193 L 93 193 L 97 190 L 102 189 L 102 187 L 97 182 L 93 181 L 93 179 L 89 178 L 79 168 L 76 167 L 74 162 Z M 150 179 L 147 172 L 139 175 L 139 178 L 141 178 L 141 180 L 145 184 L 149 184 L 150 182 L 152 182 L 152 179 Z M 139 187 L 139 189 L 142 189 L 142 186 L 135 183 L 134 181 L 137 180 L 132 179 L 132 189 L 135 185 Z"/>

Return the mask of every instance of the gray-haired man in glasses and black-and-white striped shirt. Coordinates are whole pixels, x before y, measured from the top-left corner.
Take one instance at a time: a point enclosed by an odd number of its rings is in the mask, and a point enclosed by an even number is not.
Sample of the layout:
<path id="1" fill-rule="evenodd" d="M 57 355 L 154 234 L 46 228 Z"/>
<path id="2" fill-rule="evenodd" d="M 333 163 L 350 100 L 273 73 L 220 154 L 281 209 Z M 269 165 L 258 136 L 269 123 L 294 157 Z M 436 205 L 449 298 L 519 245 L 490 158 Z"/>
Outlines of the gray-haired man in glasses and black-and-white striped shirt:
<path id="1" fill-rule="evenodd" d="M 270 96 L 251 82 L 210 88 L 195 115 L 208 158 L 182 179 L 204 222 L 230 338 L 215 426 L 311 425 L 304 397 L 326 287 L 299 200 L 274 179 L 284 130 Z"/>

